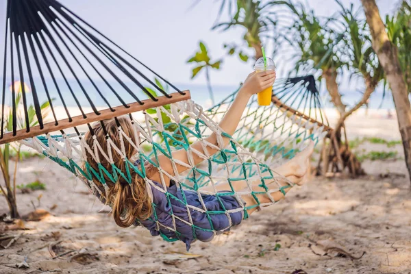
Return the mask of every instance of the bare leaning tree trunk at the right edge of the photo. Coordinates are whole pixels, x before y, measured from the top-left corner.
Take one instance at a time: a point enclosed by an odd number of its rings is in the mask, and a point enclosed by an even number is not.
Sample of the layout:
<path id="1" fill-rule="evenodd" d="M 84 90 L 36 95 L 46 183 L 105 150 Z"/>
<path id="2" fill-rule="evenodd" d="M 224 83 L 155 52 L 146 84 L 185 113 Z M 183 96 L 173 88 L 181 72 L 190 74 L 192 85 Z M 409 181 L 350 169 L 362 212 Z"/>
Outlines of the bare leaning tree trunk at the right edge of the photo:
<path id="1" fill-rule="evenodd" d="M 393 45 L 386 32 L 386 27 L 379 16 L 375 0 L 361 0 L 373 38 L 373 49 L 377 53 L 390 88 L 393 92 L 395 110 L 397 111 L 399 132 L 403 141 L 406 164 L 411 178 L 411 105 L 408 99 L 406 82 L 399 64 L 397 47 Z"/>

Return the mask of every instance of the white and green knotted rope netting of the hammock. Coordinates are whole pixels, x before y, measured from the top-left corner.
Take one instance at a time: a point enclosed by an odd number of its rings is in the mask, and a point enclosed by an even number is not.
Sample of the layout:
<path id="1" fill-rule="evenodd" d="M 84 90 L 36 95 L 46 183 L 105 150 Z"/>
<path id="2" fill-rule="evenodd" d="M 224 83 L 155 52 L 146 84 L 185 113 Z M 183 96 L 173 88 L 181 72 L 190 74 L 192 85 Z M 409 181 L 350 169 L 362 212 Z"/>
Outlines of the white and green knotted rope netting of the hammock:
<path id="1" fill-rule="evenodd" d="M 224 103 L 208 110 L 206 112 L 208 118 L 217 121 L 219 116 L 225 113 L 227 105 L 231 104 L 234 99 L 235 95 L 230 95 L 225 99 Z M 256 100 L 256 98 L 253 100 Z M 256 101 L 252 101 L 251 103 L 256 103 Z M 86 161 L 84 164 L 78 164 L 73 159 L 51 156 L 47 152 L 47 149 L 42 151 L 42 153 L 60 166 L 71 171 L 71 173 L 82 176 L 88 181 L 95 179 L 101 182 L 103 186 L 107 186 L 107 184 L 110 183 L 116 184 L 116 182 L 119 182 L 119 179 L 123 178 L 128 184 L 133 184 L 136 176 L 146 178 L 145 164 L 152 164 L 158 168 L 160 155 L 164 155 L 174 162 L 173 151 L 176 149 L 184 149 L 187 155 L 195 155 L 190 149 L 190 145 L 193 142 L 202 142 L 210 135 L 210 132 L 219 132 L 217 125 L 214 125 L 214 127 L 213 125 L 210 126 L 210 121 L 208 121 L 208 119 L 201 119 L 201 115 L 198 115 L 200 118 L 191 118 L 197 117 L 197 115 L 192 113 L 190 116 L 182 113 L 183 118 L 179 120 L 176 119 L 179 123 L 175 123 L 175 121 L 172 121 L 173 119 L 170 118 L 174 115 L 171 112 L 172 107 L 172 105 L 168 105 L 167 108 L 164 107 L 166 110 L 170 110 L 170 113 L 167 115 L 162 113 L 164 110 L 156 110 L 155 113 L 162 116 L 163 123 L 164 121 L 170 122 L 164 123 L 162 129 L 158 129 L 158 125 L 154 127 L 151 123 L 146 125 L 147 127 L 151 127 L 151 135 L 150 137 L 147 137 L 149 135 L 140 137 L 142 137 L 141 140 L 145 140 L 145 138 L 149 138 L 150 140 L 146 140 L 144 144 L 135 144 L 137 147 L 140 145 L 140 150 L 136 158 L 138 158 L 141 164 L 136 165 L 132 160 L 125 158 L 123 159 L 123 171 L 114 163 L 111 164 L 108 169 L 105 169 L 101 163 L 98 163 L 95 169 Z M 188 110 L 186 110 L 186 112 L 188 112 Z M 168 118 L 166 119 L 165 117 Z M 187 208 L 188 214 L 192 214 L 196 212 L 196 210 L 192 208 L 192 205 L 188 207 L 189 202 L 186 191 L 201 192 L 203 186 L 221 183 L 228 184 L 225 191 L 214 194 L 219 204 L 218 210 L 199 208 L 201 212 L 204 212 L 208 225 L 206 225 L 206 227 L 191 225 L 190 233 L 192 233 L 193 238 L 197 238 L 198 232 L 201 231 L 216 232 L 216 225 L 213 223 L 215 215 L 225 214 L 232 216 L 232 212 L 225 207 L 224 201 L 227 197 L 238 199 L 238 193 L 235 191 L 235 186 L 238 182 L 242 182 L 243 184 L 243 181 L 246 181 L 246 190 L 248 190 L 248 185 L 251 183 L 253 186 L 259 186 L 261 188 L 260 191 L 249 190 L 248 193 L 248 195 L 251 195 L 256 201 L 256 204 L 246 204 L 241 209 L 242 218 L 248 219 L 248 210 L 260 208 L 261 206 L 261 201 L 258 197 L 261 197 L 261 195 L 269 195 L 269 187 L 271 187 L 271 184 L 277 183 L 276 178 L 278 175 L 273 172 L 273 164 L 282 159 L 289 160 L 293 158 L 295 154 L 300 151 L 300 147 L 302 147 L 300 146 L 301 142 L 313 140 L 317 143 L 321 139 L 321 136 L 317 132 L 310 132 L 310 130 L 292 123 L 290 117 L 279 112 L 275 106 L 264 109 L 247 108 L 236 132 L 232 135 L 222 132 L 221 136 L 225 139 L 225 142 L 227 142 L 228 139 L 228 144 L 201 162 L 201 164 L 193 166 L 184 173 L 175 175 L 178 186 L 177 194 L 174 193 L 173 195 L 173 193 L 169 191 L 165 191 L 164 193 L 169 205 L 175 203 L 181 204 L 182 207 Z M 61 142 L 64 141 L 65 137 L 55 135 L 50 138 Z M 71 136 L 66 138 L 71 138 Z M 49 147 L 49 145 L 52 147 L 47 137 L 39 136 L 38 139 L 46 147 Z M 147 144 L 149 145 L 150 151 L 146 151 L 143 147 L 143 145 Z M 64 153 L 64 151 L 59 151 L 59 155 L 60 153 Z M 174 163 L 177 164 L 177 162 Z M 149 183 L 151 184 L 151 182 Z M 159 182 L 159 184 L 162 185 L 161 182 Z M 276 186 L 278 186 L 279 192 L 283 195 L 286 195 L 285 190 L 287 188 L 292 187 L 290 185 L 281 186 L 279 183 L 277 183 Z M 200 197 L 199 199 L 201 200 Z M 149 220 L 157 222 L 159 225 L 158 208 L 155 203 L 151 203 L 151 205 L 153 207 L 153 216 L 151 216 Z M 173 207 L 170 208 L 171 210 L 168 214 L 177 222 L 178 219 L 175 218 L 176 212 L 173 212 Z M 138 222 L 138 220 L 136 221 Z M 166 236 L 164 229 L 165 228 L 162 227 L 159 234 L 167 242 L 174 242 L 182 236 L 176 227 L 170 227 L 175 237 Z"/>

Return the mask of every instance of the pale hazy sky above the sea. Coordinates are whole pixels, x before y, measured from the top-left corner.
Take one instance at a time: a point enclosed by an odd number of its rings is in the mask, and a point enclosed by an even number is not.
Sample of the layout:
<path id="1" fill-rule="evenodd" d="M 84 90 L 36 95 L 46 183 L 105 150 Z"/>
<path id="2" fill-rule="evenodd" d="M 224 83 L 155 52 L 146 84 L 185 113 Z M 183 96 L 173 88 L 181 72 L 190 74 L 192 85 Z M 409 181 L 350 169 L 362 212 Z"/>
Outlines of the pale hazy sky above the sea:
<path id="1" fill-rule="evenodd" d="M 191 80 L 192 65 L 186 64 L 197 50 L 199 40 L 206 43 L 212 58 L 218 59 L 225 55 L 224 43 L 240 41 L 244 35 L 241 28 L 228 32 L 211 30 L 219 10 L 219 0 L 201 0 L 194 8 L 190 8 L 194 0 L 60 1 L 173 83 L 206 84 L 204 75 Z M 360 0 L 341 1 L 346 6 L 352 2 L 355 7 L 360 7 Z M 338 10 L 334 0 L 306 2 L 319 16 L 329 16 Z M 4 37 L 5 3 L 5 0 L 0 0 L 0 39 Z M 382 16 L 393 12 L 394 3 L 396 1 L 377 0 Z M 290 52 L 284 50 L 275 59 L 279 76 L 285 75 L 290 68 L 286 62 L 289 55 Z M 2 56 L 0 61 L 3 62 Z M 252 63 L 225 58 L 221 71 L 211 73 L 212 84 L 237 85 L 251 72 Z M 347 86 L 344 81 L 342 84 Z"/>

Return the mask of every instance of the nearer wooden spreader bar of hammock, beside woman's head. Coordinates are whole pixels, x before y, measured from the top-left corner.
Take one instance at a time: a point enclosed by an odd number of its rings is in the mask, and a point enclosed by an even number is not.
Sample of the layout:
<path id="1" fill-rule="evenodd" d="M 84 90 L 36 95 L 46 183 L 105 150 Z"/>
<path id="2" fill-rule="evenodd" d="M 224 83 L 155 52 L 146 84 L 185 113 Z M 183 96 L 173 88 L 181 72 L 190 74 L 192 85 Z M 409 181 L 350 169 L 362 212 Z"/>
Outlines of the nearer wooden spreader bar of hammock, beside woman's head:
<path id="1" fill-rule="evenodd" d="M 136 103 L 129 103 L 129 108 L 125 108 L 124 105 L 120 105 L 118 107 L 113 108 L 115 111 L 113 112 L 110 109 L 101 110 L 100 114 L 97 115 L 95 112 L 90 112 L 86 114 L 87 118 L 84 118 L 83 115 L 72 117 L 72 121 L 70 122 L 69 119 L 64 119 L 58 121 L 58 125 L 55 125 L 55 122 L 46 123 L 42 129 L 40 129 L 40 125 L 36 127 L 31 127 L 30 131 L 27 132 L 26 129 L 20 129 L 16 132 L 14 136 L 12 132 L 3 135 L 3 138 L 0 139 L 0 145 L 8 143 L 8 142 L 15 142 L 18 140 L 23 140 L 25 138 L 32 138 L 34 136 L 38 136 L 41 134 L 47 134 L 49 132 L 56 132 L 58 130 L 67 129 L 69 127 L 76 127 L 79 125 L 85 125 L 87 123 L 93 123 L 101 120 L 110 119 L 113 117 L 118 117 L 125 114 L 130 114 L 133 112 L 138 112 L 141 110 L 147 110 L 149 108 L 155 108 L 162 105 L 168 105 L 169 103 L 176 103 L 179 101 L 184 101 L 191 99 L 190 90 L 183 91 L 185 95 L 182 95 L 179 92 L 171 93 L 171 98 L 167 98 L 165 96 L 157 97 L 158 101 L 153 101 L 152 99 L 143 100 L 142 104 Z"/>

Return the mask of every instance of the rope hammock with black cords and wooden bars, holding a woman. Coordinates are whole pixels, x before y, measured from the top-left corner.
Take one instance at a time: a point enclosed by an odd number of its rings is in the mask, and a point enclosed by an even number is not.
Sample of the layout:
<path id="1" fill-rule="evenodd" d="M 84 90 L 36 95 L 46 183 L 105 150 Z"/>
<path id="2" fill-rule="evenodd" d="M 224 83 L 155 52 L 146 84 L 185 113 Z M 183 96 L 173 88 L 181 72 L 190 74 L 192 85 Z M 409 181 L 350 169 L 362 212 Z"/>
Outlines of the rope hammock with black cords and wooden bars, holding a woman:
<path id="1" fill-rule="evenodd" d="M 170 225 L 159 221 L 154 210 L 149 220 L 155 223 L 154 230 L 164 240 L 182 239 L 179 231 L 182 223 L 192 227 L 193 238 L 197 238 L 199 231 L 220 234 L 233 225 L 232 214 L 242 212 L 247 219 L 251 207 L 275 203 L 270 193 L 282 191 L 285 195 L 284 189 L 292 183 L 279 184 L 279 179 L 286 178 L 273 168 L 292 158 L 308 140 L 317 142 L 331 130 L 321 112 L 312 75 L 277 80 L 273 104 L 258 107 L 256 98 L 251 99 L 236 133 L 228 136 L 218 122 L 236 92 L 210 110 L 203 110 L 190 100 L 188 90 L 179 90 L 55 0 L 8 0 L 6 18 L 0 144 L 18 141 L 36 149 L 82 179 L 103 203 L 109 183 L 105 178 L 115 184 L 123 177 L 132 184 L 132 173 L 137 173 L 145 180 L 151 197 L 155 189 L 164 193 L 169 203 L 179 201 L 186 207 L 184 218 L 169 213 Z M 20 79 L 23 84 L 12 84 L 8 92 L 6 79 L 12 83 Z M 25 86 L 26 82 L 29 86 Z M 18 103 L 19 97 L 23 106 Z M 42 112 L 42 101 L 50 105 L 51 115 Z M 11 102 L 10 108 L 5 106 L 6 102 Z M 127 136 L 119 127 L 121 145 L 117 146 L 110 138 L 108 145 L 123 159 L 126 172 L 115 164 L 111 171 L 101 164 L 94 169 L 86 161 L 86 152 L 97 163 L 103 160 L 99 155 L 114 163 L 114 155 L 111 149 L 104 151 L 99 142 L 89 145 L 84 132 L 90 129 L 92 133 L 90 123 L 100 122 L 104 128 L 103 120 L 124 114 L 132 119 L 134 136 Z M 34 116 L 38 125 L 30 123 Z M 10 132 L 5 131 L 6 124 L 12 125 Z M 218 137 L 217 145 L 205 140 L 213 132 Z M 229 138 L 228 145 L 224 145 L 223 137 Z M 191 149 L 190 144 L 195 141 L 218 152 L 207 155 L 206 149 Z M 125 142 L 138 151 L 135 158 L 125 156 Z M 203 162 L 197 166 L 179 162 L 171 157 L 176 149 L 187 151 L 189 163 L 193 162 L 193 156 L 202 158 Z M 170 158 L 174 174 L 159 169 L 162 182 L 152 182 L 146 176 L 145 166 L 136 161 L 160 168 L 158 161 L 151 160 L 158 155 Z M 178 165 L 188 170 L 180 174 Z M 200 204 L 192 206 L 184 192 L 182 195 L 169 192 L 164 177 L 173 179 L 181 190 L 197 192 Z M 234 191 L 233 186 L 239 180 L 247 183 L 247 193 L 255 197 L 256 206 L 243 204 L 240 195 L 244 193 Z M 256 180 L 265 191 L 253 191 L 251 182 Z M 228 182 L 232 191 L 217 192 L 215 186 L 221 182 Z M 269 183 L 277 184 L 278 188 L 269 190 L 266 185 Z M 203 190 L 203 186 L 212 186 L 214 191 Z M 219 201 L 223 196 L 234 197 L 240 207 L 225 208 L 221 201 L 221 210 L 208 210 L 201 194 L 215 195 Z M 266 194 L 271 202 L 260 203 L 256 196 L 260 194 Z M 152 206 L 155 209 L 158 205 L 153 201 Z M 208 224 L 193 222 L 195 212 L 206 214 Z M 229 223 L 217 229 L 212 222 L 215 214 L 225 214 Z M 140 220 L 136 220 L 138 223 Z"/>

